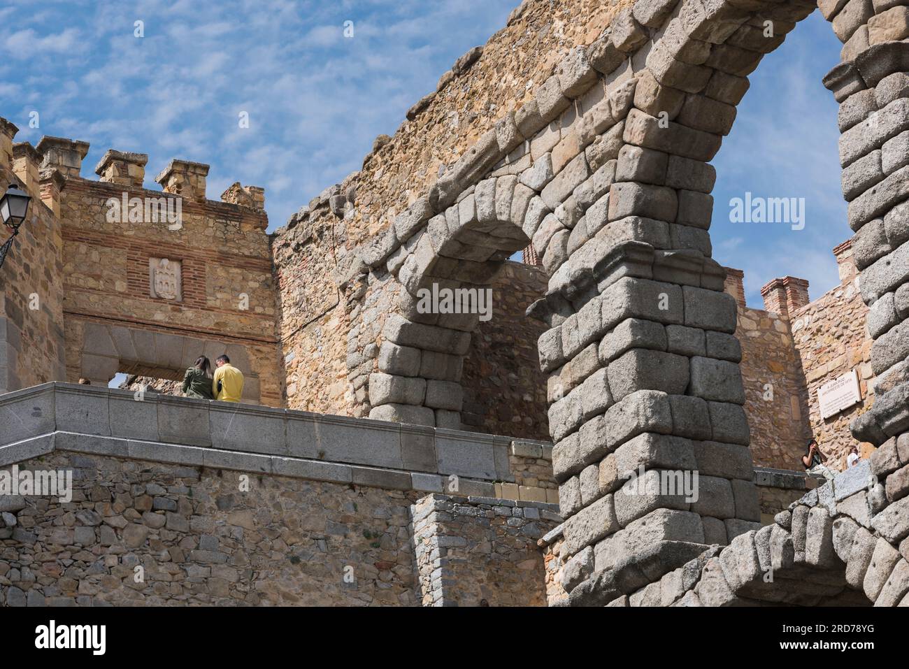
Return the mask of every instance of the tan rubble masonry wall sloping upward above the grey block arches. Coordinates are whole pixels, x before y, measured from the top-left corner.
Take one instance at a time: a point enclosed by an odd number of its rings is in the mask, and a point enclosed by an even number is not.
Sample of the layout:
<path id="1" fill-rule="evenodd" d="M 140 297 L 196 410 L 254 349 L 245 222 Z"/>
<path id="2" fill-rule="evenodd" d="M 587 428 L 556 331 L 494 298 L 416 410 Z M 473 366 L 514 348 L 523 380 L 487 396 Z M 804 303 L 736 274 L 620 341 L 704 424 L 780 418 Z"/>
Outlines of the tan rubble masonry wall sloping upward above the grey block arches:
<path id="1" fill-rule="evenodd" d="M 453 164 L 459 155 L 468 159 L 466 151 L 477 137 L 488 135 L 495 123 L 510 118 L 522 102 L 532 99 L 559 58 L 573 45 L 594 39 L 609 16 L 627 4 L 625 0 L 610 5 L 584 1 L 579 11 L 574 2 L 524 2 L 487 45 L 465 54 L 452 71 L 443 75 L 438 92 L 427 95 L 408 112 L 394 137 L 381 135 L 376 139 L 374 151 L 366 157 L 361 172 L 326 189 L 276 233 L 275 271 L 282 286 L 281 331 L 285 358 L 290 358 L 288 405 L 336 414 L 370 414 L 373 404 L 369 400 L 369 379 L 371 374 L 385 372 L 379 364 L 384 339 L 381 334 L 385 315 L 399 308 L 396 304 L 393 309 L 388 308 L 390 301 L 397 302 L 399 289 L 388 285 L 390 274 L 385 273 L 384 266 L 357 278 L 350 269 L 356 267 L 359 255 L 351 252 L 372 242 L 378 233 L 391 230 L 395 217 L 414 205 L 425 189 L 440 178 L 442 165 Z M 528 162 L 529 156 L 524 160 Z M 381 241 L 378 244 L 383 245 Z M 393 250 L 388 248 L 388 253 Z M 325 280 L 329 276 L 332 279 Z M 336 285 L 343 295 L 337 295 Z M 340 307 L 332 310 L 333 305 L 344 304 L 345 299 L 343 311 Z M 377 312 L 376 305 L 381 307 Z M 508 305 L 500 305 L 500 312 L 503 308 Z M 306 364 L 303 361 L 308 356 L 317 356 L 322 364 Z M 504 361 L 503 365 L 507 366 Z M 507 374 L 503 371 L 494 376 L 502 378 Z M 524 387 L 527 382 L 522 377 L 514 391 L 520 393 L 522 404 L 528 402 L 524 397 L 530 394 Z M 468 391 L 471 405 L 482 403 L 485 392 Z M 533 392 L 537 393 L 538 390 Z M 454 412 L 441 410 L 449 413 L 434 416 L 433 424 L 460 427 Z M 415 413 L 423 414 L 422 418 L 411 415 Z M 406 410 L 405 414 L 409 414 L 409 420 L 428 422 L 425 412 Z M 528 414 L 540 415 L 537 411 Z M 491 424 L 484 430 L 503 431 L 494 424 L 510 424 L 515 415 L 504 419 L 489 416 Z M 376 417 L 405 416 L 399 410 L 395 415 L 386 411 Z M 436 423 L 436 417 L 442 422 Z M 471 420 L 474 429 L 481 427 L 476 424 L 478 419 Z M 524 425 L 525 432 L 520 435 L 543 436 L 538 432 L 541 425 L 536 419 L 534 422 Z"/>

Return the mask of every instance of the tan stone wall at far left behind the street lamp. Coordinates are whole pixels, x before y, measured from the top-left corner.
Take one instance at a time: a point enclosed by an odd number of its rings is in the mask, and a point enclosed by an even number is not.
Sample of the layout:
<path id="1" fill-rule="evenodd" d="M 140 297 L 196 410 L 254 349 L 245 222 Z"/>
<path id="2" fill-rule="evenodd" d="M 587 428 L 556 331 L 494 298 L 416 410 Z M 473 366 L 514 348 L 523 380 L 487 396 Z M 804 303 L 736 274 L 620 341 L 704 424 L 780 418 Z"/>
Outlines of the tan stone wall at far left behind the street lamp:
<path id="1" fill-rule="evenodd" d="M 0 161 L 0 193 L 14 180 Z M 65 378 L 60 222 L 37 188 L 28 195 L 28 219 L 0 269 L 0 393 Z M 7 237 L 0 225 L 0 244 Z"/>

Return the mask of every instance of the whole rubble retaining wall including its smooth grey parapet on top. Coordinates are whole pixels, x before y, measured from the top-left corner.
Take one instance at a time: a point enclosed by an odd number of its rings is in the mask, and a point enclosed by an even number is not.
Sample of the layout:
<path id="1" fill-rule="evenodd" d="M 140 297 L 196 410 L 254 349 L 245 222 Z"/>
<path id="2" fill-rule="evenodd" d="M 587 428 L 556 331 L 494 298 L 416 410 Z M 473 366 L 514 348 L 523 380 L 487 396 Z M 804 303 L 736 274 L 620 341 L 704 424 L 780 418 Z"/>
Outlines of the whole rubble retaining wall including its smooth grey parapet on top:
<path id="1" fill-rule="evenodd" d="M 74 485 L 0 497 L 0 604 L 545 602 L 558 506 L 493 496 L 544 444 L 74 384 L 0 419 L 5 475 Z"/>

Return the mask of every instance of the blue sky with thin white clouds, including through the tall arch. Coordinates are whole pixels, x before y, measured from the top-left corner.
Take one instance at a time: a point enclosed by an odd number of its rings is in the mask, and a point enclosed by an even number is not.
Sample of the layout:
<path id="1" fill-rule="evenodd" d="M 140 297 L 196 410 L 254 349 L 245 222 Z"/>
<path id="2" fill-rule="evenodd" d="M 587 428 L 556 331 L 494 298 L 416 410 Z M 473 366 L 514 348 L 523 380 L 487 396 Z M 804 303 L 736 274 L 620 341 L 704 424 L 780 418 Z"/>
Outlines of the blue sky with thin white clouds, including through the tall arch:
<path id="1" fill-rule="evenodd" d="M 208 196 L 265 186 L 271 229 L 360 167 L 375 135 L 454 60 L 504 26 L 518 0 L 7 2 L 0 8 L 0 115 L 18 141 L 83 139 L 83 175 L 108 148 L 149 155 L 146 187 L 173 157 L 211 165 Z M 134 36 L 135 21 L 145 36 Z M 354 36 L 344 35 L 353 21 Z M 714 257 L 744 269 L 748 303 L 774 276 L 836 283 L 850 236 L 836 104 L 821 79 L 840 45 L 815 12 L 752 75 L 714 160 Z M 29 127 L 37 111 L 40 127 Z M 249 115 L 240 128 L 239 115 Z M 804 197 L 806 225 L 732 224 L 745 191 Z"/>

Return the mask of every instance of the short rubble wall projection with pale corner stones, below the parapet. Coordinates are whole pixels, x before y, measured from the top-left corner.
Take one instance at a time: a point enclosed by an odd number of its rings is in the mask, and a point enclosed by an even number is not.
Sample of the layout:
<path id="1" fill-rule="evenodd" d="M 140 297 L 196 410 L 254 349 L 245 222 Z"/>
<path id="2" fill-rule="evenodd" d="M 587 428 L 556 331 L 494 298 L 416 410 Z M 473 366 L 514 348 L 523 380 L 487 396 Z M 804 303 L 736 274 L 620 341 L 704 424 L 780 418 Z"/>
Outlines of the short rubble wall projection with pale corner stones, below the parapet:
<path id="1" fill-rule="evenodd" d="M 561 523 L 554 504 L 429 494 L 413 507 L 425 606 L 544 606 L 537 540 Z"/>

